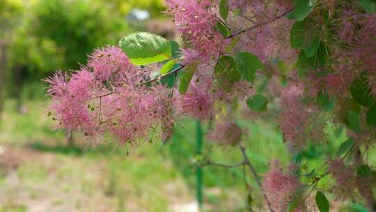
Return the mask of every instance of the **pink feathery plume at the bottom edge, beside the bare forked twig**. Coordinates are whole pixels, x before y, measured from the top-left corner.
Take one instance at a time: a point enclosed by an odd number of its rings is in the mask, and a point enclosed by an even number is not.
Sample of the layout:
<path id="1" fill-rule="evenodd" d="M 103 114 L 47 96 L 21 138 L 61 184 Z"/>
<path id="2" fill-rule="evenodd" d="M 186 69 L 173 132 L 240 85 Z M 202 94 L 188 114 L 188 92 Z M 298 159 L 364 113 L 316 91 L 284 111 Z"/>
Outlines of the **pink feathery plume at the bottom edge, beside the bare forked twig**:
<path id="1" fill-rule="evenodd" d="M 275 161 L 264 176 L 263 188 L 274 211 L 284 211 L 301 183 L 292 173 L 283 172 Z M 302 206 L 301 206 L 302 207 Z M 299 210 L 299 207 L 298 207 Z"/>

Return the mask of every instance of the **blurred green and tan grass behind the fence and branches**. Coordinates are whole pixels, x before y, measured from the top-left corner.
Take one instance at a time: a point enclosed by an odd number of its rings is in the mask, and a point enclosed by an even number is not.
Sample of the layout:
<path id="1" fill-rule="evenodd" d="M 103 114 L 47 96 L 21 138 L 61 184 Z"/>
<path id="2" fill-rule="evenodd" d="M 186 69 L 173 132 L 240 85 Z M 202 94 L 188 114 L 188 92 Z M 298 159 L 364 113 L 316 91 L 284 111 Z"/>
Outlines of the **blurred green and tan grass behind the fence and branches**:
<path id="1" fill-rule="evenodd" d="M 169 211 L 171 205 L 195 201 L 195 121 L 179 121 L 167 146 L 159 141 L 128 149 L 116 144 L 90 146 L 79 135 L 75 135 L 76 146 L 67 146 L 64 130 L 52 130 L 54 122 L 47 116 L 45 100 L 25 101 L 22 114 L 15 106 L 15 100 L 7 100 L 0 145 L 20 149 L 16 158 L 22 161 L 15 174 L 0 179 L 1 212 L 32 211 L 40 202 L 65 211 Z M 239 124 L 248 130 L 246 151 L 261 176 L 270 161 L 278 159 L 286 165 L 292 160 L 294 155 L 288 153 L 276 124 L 258 119 L 240 120 Z M 204 123 L 203 131 L 209 126 Z M 318 172 L 324 165 L 323 153 L 334 153 L 346 139 L 340 128 L 329 123 L 325 128 L 327 146 L 312 144 L 293 157 Z M 220 146 L 205 137 L 203 154 L 226 164 L 242 160 L 236 147 Z M 246 174 L 253 188 L 252 204 L 260 206 L 256 182 Z M 330 179 L 324 179 L 320 187 L 328 183 Z M 204 167 L 203 186 L 205 211 L 245 210 L 241 167 Z M 86 205 L 88 199 L 91 204 Z"/>

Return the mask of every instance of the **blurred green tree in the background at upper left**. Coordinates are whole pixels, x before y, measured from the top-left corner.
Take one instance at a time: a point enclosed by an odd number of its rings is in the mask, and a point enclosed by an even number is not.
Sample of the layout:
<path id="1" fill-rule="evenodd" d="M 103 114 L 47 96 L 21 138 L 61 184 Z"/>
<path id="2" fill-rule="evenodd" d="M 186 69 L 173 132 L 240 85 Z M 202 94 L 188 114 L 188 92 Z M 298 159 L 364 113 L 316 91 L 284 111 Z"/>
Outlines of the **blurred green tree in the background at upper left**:
<path id="1" fill-rule="evenodd" d="M 31 3 L 10 42 L 11 95 L 20 100 L 23 85 L 40 84 L 56 69 L 76 70 L 93 49 L 116 44 L 128 32 L 123 17 L 101 1 Z"/>

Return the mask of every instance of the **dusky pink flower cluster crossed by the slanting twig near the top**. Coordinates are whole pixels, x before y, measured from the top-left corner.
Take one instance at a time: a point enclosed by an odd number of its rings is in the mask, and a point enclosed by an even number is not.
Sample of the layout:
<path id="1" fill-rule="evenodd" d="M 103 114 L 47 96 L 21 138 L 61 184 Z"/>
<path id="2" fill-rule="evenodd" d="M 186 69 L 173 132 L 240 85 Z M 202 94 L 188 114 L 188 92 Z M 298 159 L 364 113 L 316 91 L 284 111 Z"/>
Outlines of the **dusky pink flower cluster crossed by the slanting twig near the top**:
<path id="1" fill-rule="evenodd" d="M 287 62 L 294 61 L 297 52 L 290 47 L 290 29 L 294 21 L 288 19 L 271 21 L 291 7 L 284 8 L 276 2 L 267 1 L 247 1 L 246 3 L 249 4 L 249 10 L 244 17 L 253 20 L 251 26 L 269 21 L 270 23 L 244 33 L 238 47 L 252 52 L 264 62 L 274 58 Z M 244 25 L 243 22 L 238 24 Z"/>

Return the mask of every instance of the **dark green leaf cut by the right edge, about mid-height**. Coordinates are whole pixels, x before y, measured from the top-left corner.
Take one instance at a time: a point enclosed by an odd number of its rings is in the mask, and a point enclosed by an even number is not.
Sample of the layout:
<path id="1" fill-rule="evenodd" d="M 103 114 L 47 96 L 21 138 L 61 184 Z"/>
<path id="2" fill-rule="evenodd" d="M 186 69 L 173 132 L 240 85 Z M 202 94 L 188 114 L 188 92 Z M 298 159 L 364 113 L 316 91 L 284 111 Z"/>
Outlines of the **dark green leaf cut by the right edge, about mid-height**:
<path id="1" fill-rule="evenodd" d="M 354 100 L 364 107 L 376 107 L 375 98 L 371 93 L 370 87 L 368 86 L 368 75 L 366 72 L 361 73 L 359 77 L 354 79 L 350 85 L 350 92 Z"/>

